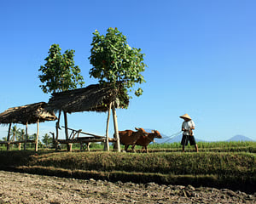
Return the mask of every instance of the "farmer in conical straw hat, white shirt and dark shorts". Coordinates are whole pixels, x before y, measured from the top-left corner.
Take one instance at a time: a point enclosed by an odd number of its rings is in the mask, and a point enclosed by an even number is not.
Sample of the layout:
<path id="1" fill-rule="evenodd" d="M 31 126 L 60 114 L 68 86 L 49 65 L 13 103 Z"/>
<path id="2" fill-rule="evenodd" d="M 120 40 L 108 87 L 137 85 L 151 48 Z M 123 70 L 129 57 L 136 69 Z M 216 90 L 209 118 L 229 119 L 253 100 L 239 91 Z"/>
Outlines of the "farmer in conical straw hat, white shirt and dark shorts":
<path id="1" fill-rule="evenodd" d="M 194 133 L 192 130 L 195 129 L 195 122 L 192 121 L 191 117 L 186 113 L 183 116 L 180 116 L 184 120 L 182 125 L 183 139 L 181 144 L 183 145 L 183 152 L 185 151 L 185 145 L 195 145 L 195 151 L 198 152 L 198 146 L 195 142 Z"/>

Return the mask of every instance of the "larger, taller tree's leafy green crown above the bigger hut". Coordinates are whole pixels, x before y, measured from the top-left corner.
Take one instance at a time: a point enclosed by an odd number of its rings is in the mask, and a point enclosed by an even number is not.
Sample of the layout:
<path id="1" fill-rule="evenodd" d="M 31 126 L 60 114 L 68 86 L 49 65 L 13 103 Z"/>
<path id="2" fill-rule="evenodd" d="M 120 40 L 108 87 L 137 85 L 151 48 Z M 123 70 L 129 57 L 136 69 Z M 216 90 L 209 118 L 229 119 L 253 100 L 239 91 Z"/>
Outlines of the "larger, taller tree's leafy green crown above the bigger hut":
<path id="1" fill-rule="evenodd" d="M 99 31 L 93 33 L 91 43 L 91 55 L 89 57 L 90 77 L 95 77 L 100 83 L 110 82 L 113 88 L 119 88 L 122 84 L 123 94 L 131 91 L 135 83 L 145 82 L 141 72 L 145 71 L 141 49 L 131 48 L 126 37 L 117 28 L 108 28 L 107 34 L 100 35 Z M 143 89 L 138 88 L 137 96 L 143 94 Z M 119 96 L 120 104 L 124 105 L 122 97 Z"/>

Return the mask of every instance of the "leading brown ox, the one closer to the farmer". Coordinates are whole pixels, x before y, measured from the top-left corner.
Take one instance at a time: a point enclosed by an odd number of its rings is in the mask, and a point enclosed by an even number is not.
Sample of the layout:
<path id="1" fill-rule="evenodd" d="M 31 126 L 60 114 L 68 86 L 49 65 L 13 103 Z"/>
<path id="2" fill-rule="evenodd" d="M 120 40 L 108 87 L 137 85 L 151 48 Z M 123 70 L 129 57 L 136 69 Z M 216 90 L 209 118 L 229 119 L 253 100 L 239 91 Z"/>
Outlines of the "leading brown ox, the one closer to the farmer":
<path id="1" fill-rule="evenodd" d="M 162 136 L 160 135 L 160 133 L 157 131 L 157 130 L 152 130 L 152 133 L 148 133 L 147 136 L 144 136 L 144 137 L 140 137 L 139 139 L 137 139 L 137 142 L 132 145 L 132 150 L 135 150 L 135 146 L 136 145 L 140 145 L 140 146 L 143 146 L 143 151 L 145 150 L 146 153 L 148 153 L 148 144 L 151 143 L 154 138 L 157 138 L 157 139 L 161 139 Z"/>

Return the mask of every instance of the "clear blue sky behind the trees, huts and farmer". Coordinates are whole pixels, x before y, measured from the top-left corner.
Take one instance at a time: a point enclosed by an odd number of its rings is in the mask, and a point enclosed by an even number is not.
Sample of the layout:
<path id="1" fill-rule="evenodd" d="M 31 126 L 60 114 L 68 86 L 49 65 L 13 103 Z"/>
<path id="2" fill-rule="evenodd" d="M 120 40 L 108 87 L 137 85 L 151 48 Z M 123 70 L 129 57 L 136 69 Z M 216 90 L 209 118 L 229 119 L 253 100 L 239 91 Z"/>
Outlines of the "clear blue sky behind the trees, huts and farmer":
<path id="1" fill-rule="evenodd" d="M 75 50 L 84 86 L 97 83 L 89 75 L 92 33 L 117 27 L 132 48 L 142 49 L 148 65 L 143 95 L 117 111 L 119 130 L 143 127 L 172 135 L 181 129 L 179 116 L 188 113 L 195 139 L 241 134 L 256 140 L 255 8 L 254 0 L 1 0 L 0 112 L 48 102 L 38 69 L 53 43 L 62 54 Z M 87 133 L 105 135 L 106 123 L 107 113 L 68 115 L 68 127 Z M 54 130 L 55 122 L 40 123 L 40 139 Z M 0 126 L 1 139 L 7 132 Z M 28 133 L 36 133 L 36 125 Z"/>

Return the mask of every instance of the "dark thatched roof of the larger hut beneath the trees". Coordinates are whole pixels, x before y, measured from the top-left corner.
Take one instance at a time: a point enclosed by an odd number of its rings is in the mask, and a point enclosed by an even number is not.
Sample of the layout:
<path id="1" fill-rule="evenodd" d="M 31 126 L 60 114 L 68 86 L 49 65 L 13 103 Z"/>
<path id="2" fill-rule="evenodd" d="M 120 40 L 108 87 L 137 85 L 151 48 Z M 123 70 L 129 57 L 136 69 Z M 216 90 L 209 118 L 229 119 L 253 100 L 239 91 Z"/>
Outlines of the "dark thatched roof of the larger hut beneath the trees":
<path id="1" fill-rule="evenodd" d="M 82 111 L 108 111 L 108 105 L 113 102 L 118 91 L 109 84 L 92 84 L 86 88 L 77 88 L 70 91 L 52 94 L 48 102 L 50 111 L 82 112 Z M 125 100 L 129 104 L 129 99 Z"/>

